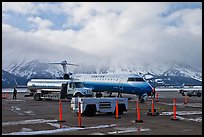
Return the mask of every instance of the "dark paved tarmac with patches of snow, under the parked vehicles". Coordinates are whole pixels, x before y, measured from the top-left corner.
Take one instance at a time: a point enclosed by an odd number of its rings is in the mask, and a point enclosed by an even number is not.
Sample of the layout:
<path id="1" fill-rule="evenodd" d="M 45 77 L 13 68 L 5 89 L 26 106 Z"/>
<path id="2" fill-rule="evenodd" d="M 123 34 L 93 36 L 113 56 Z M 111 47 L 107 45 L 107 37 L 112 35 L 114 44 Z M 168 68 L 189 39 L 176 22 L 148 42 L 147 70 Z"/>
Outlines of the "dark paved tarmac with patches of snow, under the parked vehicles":
<path id="1" fill-rule="evenodd" d="M 2 99 L 2 135 L 202 135 L 202 97 L 190 97 L 184 104 L 184 97 L 178 93 L 159 93 L 154 107 L 157 116 L 147 113 L 152 108 L 152 100 L 139 103 L 142 123 L 136 123 L 135 96 L 127 95 L 128 111 L 120 119 L 110 114 L 94 117 L 82 116 L 82 126 L 78 126 L 77 114 L 70 110 L 70 101 L 62 102 L 62 118 L 59 121 L 59 102 L 53 100 L 34 101 L 18 93 L 17 99 L 8 94 Z M 124 95 L 125 97 L 125 95 Z M 171 120 L 173 98 L 179 120 Z"/>

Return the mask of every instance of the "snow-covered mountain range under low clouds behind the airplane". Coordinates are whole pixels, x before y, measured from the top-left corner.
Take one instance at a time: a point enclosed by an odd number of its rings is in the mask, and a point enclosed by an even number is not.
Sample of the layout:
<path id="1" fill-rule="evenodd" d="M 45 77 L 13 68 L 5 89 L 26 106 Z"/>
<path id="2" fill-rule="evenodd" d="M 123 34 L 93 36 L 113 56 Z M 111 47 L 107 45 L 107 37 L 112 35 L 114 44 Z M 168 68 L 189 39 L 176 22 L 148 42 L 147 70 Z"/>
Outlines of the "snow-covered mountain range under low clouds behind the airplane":
<path id="1" fill-rule="evenodd" d="M 149 64 L 129 63 L 111 66 L 88 66 L 79 64 L 70 70 L 73 73 L 135 73 L 142 75 L 153 86 L 202 84 L 202 72 L 182 64 Z M 70 68 L 70 67 L 69 67 Z M 2 86 L 12 85 L 13 79 L 26 84 L 31 78 L 62 78 L 62 66 L 42 63 L 39 60 L 30 62 L 12 63 L 2 70 Z M 22 82 L 23 81 L 23 82 Z"/>

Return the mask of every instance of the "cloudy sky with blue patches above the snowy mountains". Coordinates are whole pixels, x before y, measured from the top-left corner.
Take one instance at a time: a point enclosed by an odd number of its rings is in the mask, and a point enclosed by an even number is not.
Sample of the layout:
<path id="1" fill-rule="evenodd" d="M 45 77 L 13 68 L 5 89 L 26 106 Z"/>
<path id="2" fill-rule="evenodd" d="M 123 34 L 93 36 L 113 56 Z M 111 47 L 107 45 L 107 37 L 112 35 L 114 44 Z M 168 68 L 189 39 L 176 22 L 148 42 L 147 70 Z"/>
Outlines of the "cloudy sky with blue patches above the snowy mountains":
<path id="1" fill-rule="evenodd" d="M 202 3 L 3 2 L 2 62 L 202 67 Z"/>

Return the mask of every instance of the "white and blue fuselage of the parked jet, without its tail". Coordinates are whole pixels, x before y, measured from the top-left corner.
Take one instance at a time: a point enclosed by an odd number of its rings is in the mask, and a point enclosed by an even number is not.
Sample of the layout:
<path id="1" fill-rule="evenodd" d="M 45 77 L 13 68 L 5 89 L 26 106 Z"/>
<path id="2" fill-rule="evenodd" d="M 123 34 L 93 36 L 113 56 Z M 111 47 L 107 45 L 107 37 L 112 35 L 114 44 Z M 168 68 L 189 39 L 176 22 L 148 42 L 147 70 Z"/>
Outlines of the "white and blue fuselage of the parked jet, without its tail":
<path id="1" fill-rule="evenodd" d="M 118 92 L 142 95 L 152 92 L 152 87 L 141 76 L 136 74 L 75 74 L 72 76 L 84 82 L 85 87 L 93 91 Z"/>

